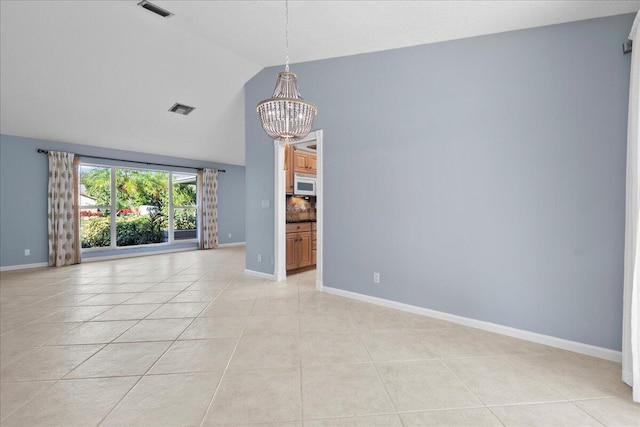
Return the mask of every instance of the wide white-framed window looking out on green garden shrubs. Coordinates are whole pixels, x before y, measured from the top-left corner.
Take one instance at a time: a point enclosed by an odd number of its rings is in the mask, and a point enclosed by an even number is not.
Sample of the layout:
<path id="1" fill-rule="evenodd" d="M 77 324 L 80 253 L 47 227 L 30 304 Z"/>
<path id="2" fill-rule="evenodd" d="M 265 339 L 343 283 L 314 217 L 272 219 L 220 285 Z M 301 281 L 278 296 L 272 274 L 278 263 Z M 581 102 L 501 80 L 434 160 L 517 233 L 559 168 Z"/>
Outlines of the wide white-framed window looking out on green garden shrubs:
<path id="1" fill-rule="evenodd" d="M 82 164 L 83 249 L 197 240 L 196 175 Z"/>

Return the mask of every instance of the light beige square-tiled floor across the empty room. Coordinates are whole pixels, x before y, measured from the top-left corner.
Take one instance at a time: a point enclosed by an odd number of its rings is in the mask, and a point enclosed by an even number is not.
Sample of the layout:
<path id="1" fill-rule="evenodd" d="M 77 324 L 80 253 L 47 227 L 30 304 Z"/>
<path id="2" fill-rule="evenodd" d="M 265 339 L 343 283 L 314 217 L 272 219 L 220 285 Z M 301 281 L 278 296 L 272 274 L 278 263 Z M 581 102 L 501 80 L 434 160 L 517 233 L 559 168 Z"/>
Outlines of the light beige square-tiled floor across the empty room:
<path id="1" fill-rule="evenodd" d="M 617 363 L 243 271 L 235 247 L 2 273 L 2 425 L 640 426 Z"/>

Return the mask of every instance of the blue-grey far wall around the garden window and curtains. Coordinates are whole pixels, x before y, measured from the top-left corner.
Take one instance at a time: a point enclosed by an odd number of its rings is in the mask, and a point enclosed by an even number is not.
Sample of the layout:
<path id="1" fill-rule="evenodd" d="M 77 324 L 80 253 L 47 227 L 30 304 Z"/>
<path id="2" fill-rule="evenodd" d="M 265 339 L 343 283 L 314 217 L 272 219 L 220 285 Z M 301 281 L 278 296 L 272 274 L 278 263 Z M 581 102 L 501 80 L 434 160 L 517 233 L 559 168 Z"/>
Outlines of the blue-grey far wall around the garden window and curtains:
<path id="1" fill-rule="evenodd" d="M 245 241 L 245 168 L 244 166 L 212 163 L 201 160 L 136 153 L 109 148 L 91 147 L 63 142 L 0 135 L 0 266 L 47 262 L 47 156 L 36 152 L 69 151 L 87 156 L 184 165 L 187 168 L 219 168 L 218 174 L 218 234 L 220 243 Z M 89 158 L 86 158 L 89 160 Z M 135 167 L 132 163 L 99 160 L 103 164 Z M 150 166 L 140 165 L 150 168 Z M 169 170 L 172 168 L 153 167 Z M 173 168 L 173 170 L 178 170 Z M 192 171 L 193 169 L 184 169 Z M 229 238 L 231 233 L 231 238 Z M 171 248 L 195 247 L 177 245 Z M 31 249 L 25 257 L 24 250 Z M 86 258 L 144 251 L 166 250 L 168 247 L 142 247 L 118 251 L 99 251 Z"/>

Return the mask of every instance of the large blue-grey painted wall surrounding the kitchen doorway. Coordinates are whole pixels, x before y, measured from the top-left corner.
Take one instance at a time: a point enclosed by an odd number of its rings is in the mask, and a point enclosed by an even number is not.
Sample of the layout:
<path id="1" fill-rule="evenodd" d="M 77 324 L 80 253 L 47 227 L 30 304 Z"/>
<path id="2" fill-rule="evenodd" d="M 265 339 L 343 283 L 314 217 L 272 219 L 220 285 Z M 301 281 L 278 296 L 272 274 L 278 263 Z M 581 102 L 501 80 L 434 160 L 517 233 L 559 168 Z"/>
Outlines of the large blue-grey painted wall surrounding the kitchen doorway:
<path id="1" fill-rule="evenodd" d="M 632 21 L 294 64 L 324 131 L 324 284 L 620 350 Z M 254 106 L 278 71 L 245 87 L 247 268 L 267 273 Z"/>

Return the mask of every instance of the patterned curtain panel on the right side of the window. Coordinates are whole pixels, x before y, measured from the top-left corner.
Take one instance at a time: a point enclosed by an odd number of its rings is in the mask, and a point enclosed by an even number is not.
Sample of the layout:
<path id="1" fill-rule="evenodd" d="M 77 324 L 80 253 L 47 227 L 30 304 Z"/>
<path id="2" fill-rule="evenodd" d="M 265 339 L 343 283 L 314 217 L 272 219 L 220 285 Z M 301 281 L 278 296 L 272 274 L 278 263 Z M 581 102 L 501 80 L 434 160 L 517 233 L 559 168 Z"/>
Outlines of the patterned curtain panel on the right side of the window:
<path id="1" fill-rule="evenodd" d="M 218 247 L 218 171 L 198 171 L 198 205 L 200 206 L 200 249 Z"/>

